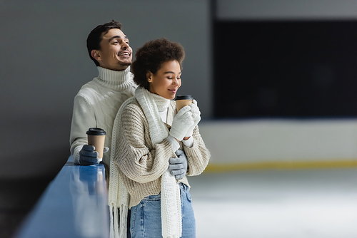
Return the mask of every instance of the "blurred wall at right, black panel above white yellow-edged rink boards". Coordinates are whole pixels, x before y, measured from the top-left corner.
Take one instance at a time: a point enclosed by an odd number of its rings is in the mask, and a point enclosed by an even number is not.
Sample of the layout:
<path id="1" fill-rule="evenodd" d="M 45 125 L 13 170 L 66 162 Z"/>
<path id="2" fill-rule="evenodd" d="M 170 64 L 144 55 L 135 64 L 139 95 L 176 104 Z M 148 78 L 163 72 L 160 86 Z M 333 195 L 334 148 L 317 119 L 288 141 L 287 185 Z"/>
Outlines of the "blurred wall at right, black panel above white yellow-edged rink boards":
<path id="1" fill-rule="evenodd" d="M 211 1 L 209 169 L 356 166 L 356 1 Z"/>

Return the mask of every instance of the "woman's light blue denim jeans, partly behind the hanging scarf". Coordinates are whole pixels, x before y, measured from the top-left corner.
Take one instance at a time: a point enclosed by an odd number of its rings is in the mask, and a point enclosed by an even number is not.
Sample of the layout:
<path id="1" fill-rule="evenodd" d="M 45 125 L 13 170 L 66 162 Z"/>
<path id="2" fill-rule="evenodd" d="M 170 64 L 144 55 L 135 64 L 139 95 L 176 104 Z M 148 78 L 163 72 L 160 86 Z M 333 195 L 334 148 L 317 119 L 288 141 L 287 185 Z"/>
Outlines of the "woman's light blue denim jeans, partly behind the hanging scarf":
<path id="1" fill-rule="evenodd" d="M 187 185 L 180 184 L 182 238 L 196 237 L 196 220 Z M 131 238 L 162 238 L 161 194 L 145 197 L 139 205 L 131 207 Z"/>

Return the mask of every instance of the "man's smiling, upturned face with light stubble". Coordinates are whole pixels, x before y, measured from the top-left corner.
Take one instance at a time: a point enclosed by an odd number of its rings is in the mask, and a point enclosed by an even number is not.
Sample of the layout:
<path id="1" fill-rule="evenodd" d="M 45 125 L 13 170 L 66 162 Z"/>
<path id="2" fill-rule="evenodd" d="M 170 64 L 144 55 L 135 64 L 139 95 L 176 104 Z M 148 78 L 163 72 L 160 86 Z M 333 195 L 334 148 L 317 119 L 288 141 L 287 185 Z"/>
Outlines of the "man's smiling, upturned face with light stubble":
<path id="1" fill-rule="evenodd" d="M 110 29 L 102 35 L 101 48 L 91 51 L 91 56 L 99 62 L 99 66 L 113 71 L 123 71 L 131 65 L 132 49 L 129 39 L 119 29 Z"/>

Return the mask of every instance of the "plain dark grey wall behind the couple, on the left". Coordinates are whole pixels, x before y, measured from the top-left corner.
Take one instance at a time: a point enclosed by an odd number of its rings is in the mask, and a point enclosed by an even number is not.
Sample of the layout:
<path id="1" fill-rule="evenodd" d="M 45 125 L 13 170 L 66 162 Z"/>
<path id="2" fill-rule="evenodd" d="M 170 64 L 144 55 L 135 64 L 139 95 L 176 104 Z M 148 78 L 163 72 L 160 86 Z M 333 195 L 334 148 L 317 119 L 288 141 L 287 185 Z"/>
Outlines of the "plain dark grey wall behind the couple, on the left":
<path id="1" fill-rule="evenodd" d="M 53 176 L 69 156 L 74 96 L 98 75 L 86 51 L 116 19 L 131 48 L 165 37 L 186 50 L 181 94 L 211 116 L 208 1 L 0 1 L 0 178 Z"/>

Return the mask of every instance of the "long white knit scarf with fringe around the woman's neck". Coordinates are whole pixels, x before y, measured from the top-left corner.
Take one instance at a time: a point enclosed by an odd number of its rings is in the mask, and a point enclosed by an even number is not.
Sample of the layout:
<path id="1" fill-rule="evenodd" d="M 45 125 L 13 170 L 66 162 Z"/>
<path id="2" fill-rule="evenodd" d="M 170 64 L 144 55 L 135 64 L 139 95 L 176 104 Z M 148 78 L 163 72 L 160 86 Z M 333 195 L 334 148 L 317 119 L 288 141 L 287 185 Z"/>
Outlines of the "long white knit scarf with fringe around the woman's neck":
<path id="1" fill-rule="evenodd" d="M 144 111 L 146 119 L 149 123 L 149 132 L 152 144 L 155 146 L 161 143 L 162 140 L 169 136 L 166 125 L 161 120 L 159 110 L 163 111 L 169 106 L 170 100 L 159 95 L 150 93 L 145 88 L 136 88 L 135 98 Z M 130 98 L 121 105 L 113 127 L 113 138 L 111 145 L 111 161 L 110 161 L 110 180 L 109 180 L 109 207 L 111 212 L 111 237 L 126 237 L 126 219 L 127 209 L 129 204 L 129 194 L 126 187 L 119 176 L 118 168 L 114 163 L 115 157 L 115 141 L 119 135 L 119 123 L 121 111 L 126 105 L 135 100 Z M 159 109 L 158 109 L 159 108 Z M 118 194 L 119 192 L 119 194 Z M 120 229 L 118 231 L 118 212 L 117 205 L 120 209 Z M 114 216 L 113 216 L 114 214 Z M 181 237 L 181 200 L 180 188 L 176 179 L 169 170 L 166 170 L 161 176 L 161 228 L 162 236 L 164 238 L 178 238 Z M 120 232 L 120 233 L 119 233 Z"/>

